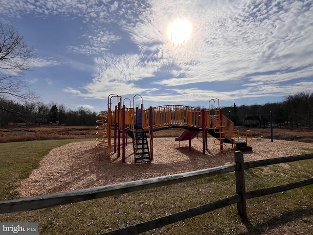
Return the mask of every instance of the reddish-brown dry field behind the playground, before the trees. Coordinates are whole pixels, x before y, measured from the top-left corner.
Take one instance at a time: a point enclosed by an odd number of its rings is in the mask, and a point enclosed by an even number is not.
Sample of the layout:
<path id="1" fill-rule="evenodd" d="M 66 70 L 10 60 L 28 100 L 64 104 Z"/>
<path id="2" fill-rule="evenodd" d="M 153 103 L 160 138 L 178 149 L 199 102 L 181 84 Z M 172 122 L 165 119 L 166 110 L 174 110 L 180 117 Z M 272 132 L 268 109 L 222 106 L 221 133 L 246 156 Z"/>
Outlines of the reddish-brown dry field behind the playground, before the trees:
<path id="1" fill-rule="evenodd" d="M 245 136 L 247 128 L 238 127 L 240 136 Z M 270 139 L 270 128 L 249 128 L 252 137 L 263 137 Z M 89 139 L 96 138 L 97 129 L 95 126 L 58 126 L 46 125 L 41 127 L 9 125 L 0 129 L 0 142 L 33 141 L 33 140 L 63 140 L 63 139 Z M 178 137 L 183 132 L 182 129 L 166 129 L 154 133 L 154 137 Z M 313 131 L 302 128 L 273 129 L 274 140 L 313 142 Z"/>

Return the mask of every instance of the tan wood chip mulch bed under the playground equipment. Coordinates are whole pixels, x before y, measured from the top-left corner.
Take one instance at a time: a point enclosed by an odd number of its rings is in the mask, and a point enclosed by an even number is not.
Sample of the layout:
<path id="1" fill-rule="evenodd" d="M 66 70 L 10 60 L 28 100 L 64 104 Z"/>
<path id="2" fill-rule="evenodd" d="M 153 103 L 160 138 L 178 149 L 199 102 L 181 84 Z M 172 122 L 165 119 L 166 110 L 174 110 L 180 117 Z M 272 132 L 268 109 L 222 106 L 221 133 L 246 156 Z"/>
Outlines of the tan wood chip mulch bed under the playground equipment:
<path id="1" fill-rule="evenodd" d="M 18 188 L 22 197 L 64 192 L 82 188 L 92 188 L 211 168 L 234 162 L 234 150 L 227 144 L 224 153 L 214 138 L 208 138 L 208 150 L 202 154 L 202 139 L 175 141 L 175 138 L 155 138 L 153 144 L 154 160 L 151 164 L 134 164 L 131 139 L 126 146 L 126 163 L 117 153 L 108 161 L 102 149 L 95 155 L 96 141 L 73 142 L 52 149 L 33 170 L 29 177 L 22 180 Z M 217 141 L 218 142 L 218 141 Z M 313 148 L 313 143 L 296 141 L 271 142 L 255 138 L 248 141 L 252 152 L 244 153 L 245 161 L 293 156 L 304 153 L 304 148 Z M 122 153 L 120 153 L 122 155 Z"/>

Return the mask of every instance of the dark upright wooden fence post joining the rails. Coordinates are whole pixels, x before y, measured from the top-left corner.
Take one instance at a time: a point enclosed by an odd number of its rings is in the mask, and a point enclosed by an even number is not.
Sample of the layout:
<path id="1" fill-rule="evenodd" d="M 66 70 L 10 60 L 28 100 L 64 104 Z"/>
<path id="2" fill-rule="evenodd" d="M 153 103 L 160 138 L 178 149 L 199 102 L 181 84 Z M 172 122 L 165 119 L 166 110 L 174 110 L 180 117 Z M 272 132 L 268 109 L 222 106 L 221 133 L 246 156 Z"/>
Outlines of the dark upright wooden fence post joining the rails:
<path id="1" fill-rule="evenodd" d="M 244 154 L 235 151 L 236 163 L 236 193 L 241 196 L 241 201 L 237 203 L 237 213 L 242 217 L 246 215 L 246 185 L 245 185 L 245 169 L 244 169 Z"/>

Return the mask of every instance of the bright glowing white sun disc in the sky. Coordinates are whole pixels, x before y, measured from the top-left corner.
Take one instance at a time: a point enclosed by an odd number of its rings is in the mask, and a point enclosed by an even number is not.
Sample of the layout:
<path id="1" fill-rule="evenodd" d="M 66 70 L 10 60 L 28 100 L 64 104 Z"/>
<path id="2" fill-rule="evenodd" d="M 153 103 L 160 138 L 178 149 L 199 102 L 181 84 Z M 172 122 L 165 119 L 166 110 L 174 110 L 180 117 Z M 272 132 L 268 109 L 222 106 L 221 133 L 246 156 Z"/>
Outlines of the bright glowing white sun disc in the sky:
<path id="1" fill-rule="evenodd" d="M 176 19 L 167 27 L 167 37 L 173 43 L 187 42 L 192 31 L 192 24 L 186 19 Z"/>

